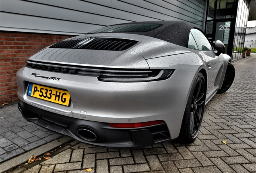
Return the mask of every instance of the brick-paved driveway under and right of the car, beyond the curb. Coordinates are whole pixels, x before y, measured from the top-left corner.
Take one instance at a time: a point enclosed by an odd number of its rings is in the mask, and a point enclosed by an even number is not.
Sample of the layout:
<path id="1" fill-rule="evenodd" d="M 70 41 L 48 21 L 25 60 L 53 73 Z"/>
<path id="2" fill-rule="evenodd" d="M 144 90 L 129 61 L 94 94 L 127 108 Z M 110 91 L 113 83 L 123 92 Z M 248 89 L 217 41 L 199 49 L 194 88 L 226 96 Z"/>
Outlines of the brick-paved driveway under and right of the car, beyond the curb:
<path id="1" fill-rule="evenodd" d="M 256 55 L 234 66 L 233 85 L 206 105 L 200 134 L 190 145 L 169 141 L 118 150 L 74 141 L 52 159 L 16 173 L 83 173 L 86 168 L 93 173 L 256 172 Z"/>

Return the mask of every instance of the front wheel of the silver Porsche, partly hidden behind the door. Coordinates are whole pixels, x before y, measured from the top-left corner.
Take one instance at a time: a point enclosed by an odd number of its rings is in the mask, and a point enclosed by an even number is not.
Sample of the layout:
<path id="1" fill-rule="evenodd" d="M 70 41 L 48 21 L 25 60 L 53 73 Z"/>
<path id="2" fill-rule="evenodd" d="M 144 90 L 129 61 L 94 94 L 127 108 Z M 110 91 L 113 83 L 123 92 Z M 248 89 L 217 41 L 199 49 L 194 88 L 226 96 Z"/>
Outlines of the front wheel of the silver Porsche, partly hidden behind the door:
<path id="1" fill-rule="evenodd" d="M 224 80 L 221 89 L 218 90 L 217 94 L 225 93 L 232 85 L 235 78 L 235 67 L 229 62 L 227 64 L 227 70 L 225 72 Z"/>

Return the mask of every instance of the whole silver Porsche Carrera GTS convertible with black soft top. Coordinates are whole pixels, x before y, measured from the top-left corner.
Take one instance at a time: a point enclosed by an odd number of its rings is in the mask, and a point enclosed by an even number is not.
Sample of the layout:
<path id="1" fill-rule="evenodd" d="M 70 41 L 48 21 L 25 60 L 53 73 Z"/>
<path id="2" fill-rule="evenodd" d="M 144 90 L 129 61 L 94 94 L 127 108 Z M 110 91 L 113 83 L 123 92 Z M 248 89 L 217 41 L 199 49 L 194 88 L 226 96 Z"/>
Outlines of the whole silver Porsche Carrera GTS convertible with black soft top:
<path id="1" fill-rule="evenodd" d="M 106 26 L 58 42 L 17 72 L 27 121 L 83 143 L 133 148 L 196 139 L 204 105 L 231 86 L 235 69 L 181 21 Z"/>

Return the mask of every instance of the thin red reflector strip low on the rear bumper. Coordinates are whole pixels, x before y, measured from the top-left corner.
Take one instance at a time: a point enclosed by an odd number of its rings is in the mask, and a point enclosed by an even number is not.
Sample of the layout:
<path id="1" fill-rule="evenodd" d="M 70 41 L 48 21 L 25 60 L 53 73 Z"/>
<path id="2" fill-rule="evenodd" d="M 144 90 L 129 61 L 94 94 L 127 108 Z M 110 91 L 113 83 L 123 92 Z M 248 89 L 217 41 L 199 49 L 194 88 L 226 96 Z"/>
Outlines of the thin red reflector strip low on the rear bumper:
<path id="1" fill-rule="evenodd" d="M 151 125 L 157 125 L 157 124 L 163 124 L 165 123 L 162 120 L 157 121 L 149 121 L 149 122 L 143 122 L 143 123 L 108 123 L 110 127 L 115 128 L 135 128 L 135 127 L 145 127 L 145 126 L 151 126 Z"/>

